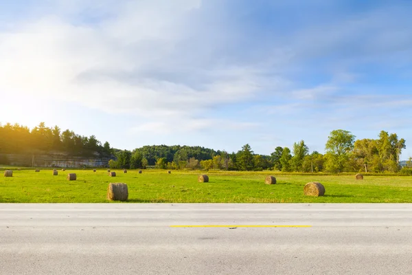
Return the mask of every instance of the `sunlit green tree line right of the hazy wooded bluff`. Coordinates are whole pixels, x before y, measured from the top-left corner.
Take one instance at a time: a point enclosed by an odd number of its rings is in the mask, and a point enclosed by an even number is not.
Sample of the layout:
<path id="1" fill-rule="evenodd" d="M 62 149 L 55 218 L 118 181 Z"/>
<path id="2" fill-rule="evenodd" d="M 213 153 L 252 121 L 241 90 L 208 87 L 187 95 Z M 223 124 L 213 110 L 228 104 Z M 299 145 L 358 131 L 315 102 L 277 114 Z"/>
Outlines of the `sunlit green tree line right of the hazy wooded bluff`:
<path id="1" fill-rule="evenodd" d="M 117 151 L 113 168 L 145 165 L 162 169 L 280 170 L 301 173 L 398 172 L 405 140 L 396 133 L 380 131 L 378 138 L 355 140 L 350 131 L 334 130 L 325 153 L 310 153 L 304 140 L 292 148 L 277 146 L 271 155 L 255 154 L 249 144 L 238 152 L 214 151 L 198 146 L 144 146 L 134 151 Z M 412 166 L 412 161 L 409 162 Z"/>

